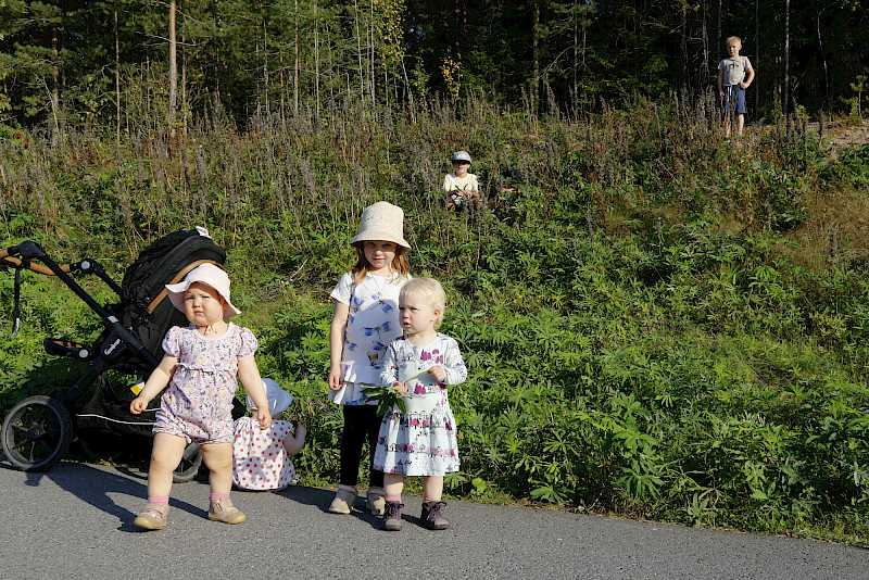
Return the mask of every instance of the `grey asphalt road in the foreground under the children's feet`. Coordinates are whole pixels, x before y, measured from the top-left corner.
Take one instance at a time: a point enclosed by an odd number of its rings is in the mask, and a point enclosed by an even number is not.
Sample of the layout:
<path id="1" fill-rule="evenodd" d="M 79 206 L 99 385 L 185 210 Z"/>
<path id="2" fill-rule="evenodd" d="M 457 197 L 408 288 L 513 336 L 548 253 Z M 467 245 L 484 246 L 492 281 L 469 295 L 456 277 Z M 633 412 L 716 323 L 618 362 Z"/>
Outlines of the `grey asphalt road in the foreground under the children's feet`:
<path id="1" fill-rule="evenodd" d="M 207 486 L 176 484 L 165 530 L 141 532 L 146 474 L 0 463 L 0 578 L 861 579 L 869 550 L 558 512 L 450 502 L 453 529 L 404 529 L 327 513 L 333 492 L 234 492 L 248 521 L 206 519 Z"/>

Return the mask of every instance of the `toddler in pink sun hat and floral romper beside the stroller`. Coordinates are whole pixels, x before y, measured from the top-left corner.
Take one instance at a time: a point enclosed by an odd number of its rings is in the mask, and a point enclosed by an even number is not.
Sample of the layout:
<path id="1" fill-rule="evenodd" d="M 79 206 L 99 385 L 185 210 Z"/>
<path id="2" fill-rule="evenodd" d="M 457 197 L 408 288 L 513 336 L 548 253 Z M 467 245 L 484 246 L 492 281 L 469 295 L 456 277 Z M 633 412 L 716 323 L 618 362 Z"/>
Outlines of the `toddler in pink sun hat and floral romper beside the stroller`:
<path id="1" fill-rule="evenodd" d="M 256 404 L 260 428 L 267 429 L 272 423 L 253 358 L 256 338 L 247 328 L 226 321 L 239 311 L 229 302 L 229 277 L 221 267 L 202 264 L 184 281 L 166 285 L 166 291 L 190 326 L 169 329 L 163 339 L 163 360 L 130 403 L 130 412 L 138 415 L 168 384 L 153 428 L 148 506 L 134 525 L 147 530 L 166 527 L 173 471 L 191 441 L 200 444 L 202 459 L 211 470 L 209 519 L 241 524 L 245 516 L 229 499 L 237 379 Z"/>

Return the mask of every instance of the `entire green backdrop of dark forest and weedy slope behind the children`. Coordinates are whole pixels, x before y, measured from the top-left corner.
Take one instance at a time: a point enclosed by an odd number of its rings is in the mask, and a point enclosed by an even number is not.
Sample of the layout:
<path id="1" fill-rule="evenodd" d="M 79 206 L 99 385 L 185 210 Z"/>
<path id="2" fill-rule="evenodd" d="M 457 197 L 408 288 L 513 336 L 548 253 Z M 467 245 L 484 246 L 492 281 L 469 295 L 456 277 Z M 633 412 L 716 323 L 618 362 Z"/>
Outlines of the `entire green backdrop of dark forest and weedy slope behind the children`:
<path id="1" fill-rule="evenodd" d="M 757 71 L 735 143 L 730 35 Z M 0 247 L 119 279 L 206 226 L 328 484 L 328 293 L 398 203 L 470 369 L 452 494 L 865 545 L 869 147 L 829 137 L 864 124 L 868 38 L 856 0 L 0 0 Z M 457 149 L 477 213 L 443 211 Z M 13 335 L 7 274 L 3 412 L 77 376 L 43 337 L 100 329 L 25 276 Z"/>

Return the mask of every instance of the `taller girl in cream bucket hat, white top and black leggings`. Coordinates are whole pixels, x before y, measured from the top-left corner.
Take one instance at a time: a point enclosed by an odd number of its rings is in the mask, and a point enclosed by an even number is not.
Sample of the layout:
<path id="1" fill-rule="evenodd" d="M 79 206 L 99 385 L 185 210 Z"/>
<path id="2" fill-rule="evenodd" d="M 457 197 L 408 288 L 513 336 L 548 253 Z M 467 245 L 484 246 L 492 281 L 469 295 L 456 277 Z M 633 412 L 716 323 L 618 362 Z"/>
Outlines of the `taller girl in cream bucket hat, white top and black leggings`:
<path id="1" fill-rule="evenodd" d="M 375 516 L 382 516 L 383 474 L 373 468 L 380 417 L 376 401 L 365 389 L 379 384 L 383 351 L 401 336 L 399 290 L 411 278 L 404 211 L 386 201 L 369 205 L 350 245 L 356 249 L 356 264 L 341 276 L 331 293 L 335 314 L 329 328 L 329 400 L 342 406 L 344 429 L 338 492 L 329 512 L 347 515 L 356 503 L 362 449 L 368 441 L 366 506 Z"/>

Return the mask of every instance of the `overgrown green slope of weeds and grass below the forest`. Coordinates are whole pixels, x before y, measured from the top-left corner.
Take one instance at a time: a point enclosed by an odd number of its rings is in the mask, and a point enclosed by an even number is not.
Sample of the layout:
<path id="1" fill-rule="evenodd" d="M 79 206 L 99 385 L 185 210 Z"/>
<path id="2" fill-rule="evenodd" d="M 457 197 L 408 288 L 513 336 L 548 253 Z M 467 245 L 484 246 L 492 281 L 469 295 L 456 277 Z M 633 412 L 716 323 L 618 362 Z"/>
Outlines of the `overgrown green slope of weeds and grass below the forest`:
<path id="1" fill-rule="evenodd" d="M 582 119 L 531 119 L 480 93 L 241 129 L 217 110 L 174 138 L 148 118 L 117 148 L 95 129 L 55 148 L 40 130 L 27 149 L 1 140 L 0 237 L 119 277 L 149 240 L 206 226 L 261 367 L 311 425 L 299 467 L 313 479 L 338 468 L 328 292 L 363 209 L 388 200 L 405 210 L 413 273 L 448 288 L 444 330 L 470 369 L 451 394 L 453 493 L 869 539 L 867 148 L 833 159 L 788 119 L 723 143 L 710 93 Z M 481 177 L 480 212 L 443 209 L 457 149 Z M 63 289 L 28 280 L 29 326 L 10 337 L 5 278 L 8 406 L 43 364 L 37 335 L 93 327 Z"/>

